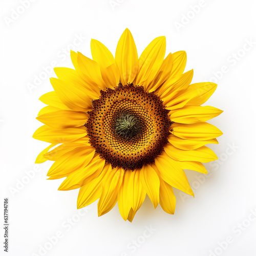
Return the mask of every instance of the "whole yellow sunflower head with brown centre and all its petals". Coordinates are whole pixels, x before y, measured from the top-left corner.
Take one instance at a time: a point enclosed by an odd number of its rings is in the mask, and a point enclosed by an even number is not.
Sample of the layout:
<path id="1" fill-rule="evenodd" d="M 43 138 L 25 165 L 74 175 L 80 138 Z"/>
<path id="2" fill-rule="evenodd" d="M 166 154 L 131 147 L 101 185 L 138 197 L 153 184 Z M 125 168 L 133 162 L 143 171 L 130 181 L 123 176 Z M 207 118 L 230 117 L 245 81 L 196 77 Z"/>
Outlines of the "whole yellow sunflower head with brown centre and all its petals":
<path id="1" fill-rule="evenodd" d="M 164 58 L 165 47 L 157 37 L 138 58 L 125 29 L 115 58 L 92 39 L 92 59 L 71 51 L 75 69 L 54 69 L 54 91 L 39 98 L 47 106 L 37 120 L 45 125 L 33 135 L 51 145 L 36 163 L 55 161 L 47 176 L 66 177 L 59 190 L 80 188 L 77 208 L 99 199 L 102 216 L 118 202 L 132 222 L 147 194 L 155 208 L 174 214 L 173 187 L 194 196 L 184 169 L 206 174 L 201 162 L 218 159 L 205 145 L 217 144 L 222 132 L 205 121 L 222 111 L 201 106 L 217 84 L 190 84 L 186 53 Z"/>

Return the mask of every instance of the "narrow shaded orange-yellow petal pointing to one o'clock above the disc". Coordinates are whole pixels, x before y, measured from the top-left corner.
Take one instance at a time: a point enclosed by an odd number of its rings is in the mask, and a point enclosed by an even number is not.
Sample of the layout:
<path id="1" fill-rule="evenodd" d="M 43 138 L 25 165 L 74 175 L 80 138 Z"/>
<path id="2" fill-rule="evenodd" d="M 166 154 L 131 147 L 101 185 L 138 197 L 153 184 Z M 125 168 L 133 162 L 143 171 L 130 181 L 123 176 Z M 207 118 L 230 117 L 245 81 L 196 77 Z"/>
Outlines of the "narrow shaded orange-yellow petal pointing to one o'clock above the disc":
<path id="1" fill-rule="evenodd" d="M 162 86 L 162 84 L 169 78 L 170 71 L 172 70 L 173 59 L 172 54 L 163 60 L 156 75 L 149 75 L 146 82 L 144 83 L 144 89 L 147 92 L 154 92 Z"/>

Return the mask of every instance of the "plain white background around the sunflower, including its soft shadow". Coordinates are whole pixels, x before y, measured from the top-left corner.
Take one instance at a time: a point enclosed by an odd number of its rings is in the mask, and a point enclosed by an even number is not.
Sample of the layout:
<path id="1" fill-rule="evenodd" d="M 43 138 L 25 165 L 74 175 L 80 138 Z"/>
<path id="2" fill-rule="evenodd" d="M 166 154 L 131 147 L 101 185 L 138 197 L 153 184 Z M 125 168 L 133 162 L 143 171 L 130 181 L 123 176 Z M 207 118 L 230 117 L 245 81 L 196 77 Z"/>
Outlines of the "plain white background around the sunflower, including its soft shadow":
<path id="1" fill-rule="evenodd" d="M 9 255 L 255 255 L 255 1 L 35 0 L 26 8 L 21 2 L 0 6 L 1 201 L 10 200 Z M 72 67 L 70 48 L 91 57 L 91 38 L 114 54 L 126 27 L 139 54 L 161 35 L 166 55 L 185 50 L 185 71 L 194 69 L 193 82 L 217 82 L 207 104 L 224 110 L 210 121 L 224 133 L 210 146 L 220 160 L 206 164 L 209 175 L 186 171 L 195 198 L 175 189 L 175 215 L 154 210 L 146 198 L 133 223 L 123 221 L 117 205 L 100 218 L 97 202 L 78 211 L 78 189 L 58 191 L 61 180 L 46 180 L 51 163 L 34 161 L 48 143 L 32 139 L 44 106 L 38 98 L 52 91 L 49 66 Z"/>

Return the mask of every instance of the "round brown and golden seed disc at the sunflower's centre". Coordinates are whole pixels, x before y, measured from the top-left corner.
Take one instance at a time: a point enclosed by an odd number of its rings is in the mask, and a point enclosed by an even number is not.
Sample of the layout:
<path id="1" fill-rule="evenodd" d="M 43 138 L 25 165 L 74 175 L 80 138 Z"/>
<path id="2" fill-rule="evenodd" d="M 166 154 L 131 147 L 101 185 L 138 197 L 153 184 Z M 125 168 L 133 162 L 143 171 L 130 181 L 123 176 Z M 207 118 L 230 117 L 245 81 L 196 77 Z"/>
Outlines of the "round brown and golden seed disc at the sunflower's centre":
<path id="1" fill-rule="evenodd" d="M 85 124 L 89 142 L 112 167 L 141 168 L 153 163 L 168 142 L 173 123 L 168 112 L 154 93 L 119 83 L 93 101 Z"/>

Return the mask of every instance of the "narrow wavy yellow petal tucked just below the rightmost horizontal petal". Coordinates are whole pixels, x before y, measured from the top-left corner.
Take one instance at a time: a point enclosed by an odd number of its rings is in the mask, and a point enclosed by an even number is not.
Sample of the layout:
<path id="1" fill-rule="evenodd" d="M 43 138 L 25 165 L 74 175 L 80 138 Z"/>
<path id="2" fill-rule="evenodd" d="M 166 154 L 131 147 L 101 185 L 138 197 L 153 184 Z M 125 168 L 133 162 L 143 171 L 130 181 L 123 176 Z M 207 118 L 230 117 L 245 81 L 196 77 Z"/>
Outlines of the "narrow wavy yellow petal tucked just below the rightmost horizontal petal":
<path id="1" fill-rule="evenodd" d="M 176 161 L 197 161 L 207 163 L 217 160 L 218 157 L 207 146 L 201 146 L 195 150 L 180 150 L 179 148 L 167 143 L 164 146 L 166 154 Z"/>

